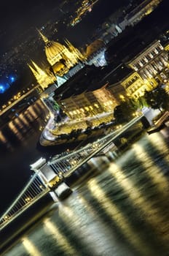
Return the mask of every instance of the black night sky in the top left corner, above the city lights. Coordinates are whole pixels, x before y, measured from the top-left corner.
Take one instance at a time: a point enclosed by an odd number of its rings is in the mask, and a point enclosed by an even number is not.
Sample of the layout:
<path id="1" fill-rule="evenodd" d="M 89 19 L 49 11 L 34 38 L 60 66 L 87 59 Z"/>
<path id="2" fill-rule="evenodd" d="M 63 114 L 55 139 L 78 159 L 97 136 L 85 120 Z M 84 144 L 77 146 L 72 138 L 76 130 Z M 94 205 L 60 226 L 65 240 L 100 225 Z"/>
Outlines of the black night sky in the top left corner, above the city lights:
<path id="1" fill-rule="evenodd" d="M 0 39 L 1 52 L 11 45 L 13 38 L 26 31 L 31 26 L 42 26 L 50 18 L 53 7 L 57 7 L 56 1 L 3 1 L 0 4 Z"/>

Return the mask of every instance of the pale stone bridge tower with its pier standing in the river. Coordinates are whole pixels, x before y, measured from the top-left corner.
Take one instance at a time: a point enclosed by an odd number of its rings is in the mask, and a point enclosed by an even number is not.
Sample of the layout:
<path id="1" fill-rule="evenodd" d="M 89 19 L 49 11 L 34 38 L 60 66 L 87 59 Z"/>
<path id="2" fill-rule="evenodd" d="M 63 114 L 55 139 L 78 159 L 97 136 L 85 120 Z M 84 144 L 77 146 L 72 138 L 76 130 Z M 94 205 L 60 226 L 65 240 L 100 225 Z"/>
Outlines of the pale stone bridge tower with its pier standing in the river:
<path id="1" fill-rule="evenodd" d="M 39 176 L 44 186 L 50 188 L 50 195 L 56 202 L 62 200 L 71 194 L 72 190 L 64 182 L 64 177 L 55 173 L 52 167 L 47 164 L 46 159 L 40 158 L 31 165 L 31 170 Z"/>

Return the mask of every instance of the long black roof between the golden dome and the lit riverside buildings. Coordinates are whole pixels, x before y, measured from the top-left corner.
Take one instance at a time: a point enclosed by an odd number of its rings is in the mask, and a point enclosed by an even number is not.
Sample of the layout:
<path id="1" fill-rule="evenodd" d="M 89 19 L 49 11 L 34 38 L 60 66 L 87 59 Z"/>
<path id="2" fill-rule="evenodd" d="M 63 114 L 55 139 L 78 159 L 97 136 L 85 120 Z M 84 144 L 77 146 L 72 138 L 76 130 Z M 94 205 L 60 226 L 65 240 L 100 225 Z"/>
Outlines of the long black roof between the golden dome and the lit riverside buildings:
<path id="1" fill-rule="evenodd" d="M 63 100 L 71 96 L 82 94 L 84 91 L 100 89 L 106 83 L 112 84 L 125 78 L 133 72 L 130 67 L 111 64 L 106 67 L 85 66 L 55 91 L 55 99 Z"/>

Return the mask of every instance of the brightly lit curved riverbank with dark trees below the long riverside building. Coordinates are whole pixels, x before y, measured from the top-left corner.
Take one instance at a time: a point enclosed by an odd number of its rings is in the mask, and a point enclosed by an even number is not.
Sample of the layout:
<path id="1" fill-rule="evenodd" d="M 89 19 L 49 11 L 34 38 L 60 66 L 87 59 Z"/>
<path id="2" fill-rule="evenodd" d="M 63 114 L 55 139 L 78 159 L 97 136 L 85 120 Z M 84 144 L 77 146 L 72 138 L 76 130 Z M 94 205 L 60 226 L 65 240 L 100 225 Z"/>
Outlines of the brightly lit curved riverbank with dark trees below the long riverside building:
<path id="1" fill-rule="evenodd" d="M 115 126 L 112 118 L 113 113 L 101 113 L 97 116 L 67 120 L 57 124 L 51 117 L 40 135 L 39 143 L 42 146 L 54 146 L 98 137 L 109 127 Z"/>

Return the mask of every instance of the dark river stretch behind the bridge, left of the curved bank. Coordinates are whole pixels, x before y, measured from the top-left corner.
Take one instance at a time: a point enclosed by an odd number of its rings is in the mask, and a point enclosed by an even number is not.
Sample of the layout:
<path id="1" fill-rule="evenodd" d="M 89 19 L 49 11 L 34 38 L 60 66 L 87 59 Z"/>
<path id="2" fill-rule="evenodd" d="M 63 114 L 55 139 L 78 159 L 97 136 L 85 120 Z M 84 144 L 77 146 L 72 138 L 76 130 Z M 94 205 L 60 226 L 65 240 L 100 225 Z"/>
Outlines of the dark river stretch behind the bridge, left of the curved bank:
<path id="1" fill-rule="evenodd" d="M 40 128 L 47 123 L 47 116 L 47 109 L 38 100 L 20 116 L 0 127 L 0 213 L 30 179 L 33 174 L 30 165 L 45 156 L 37 142 Z"/>

